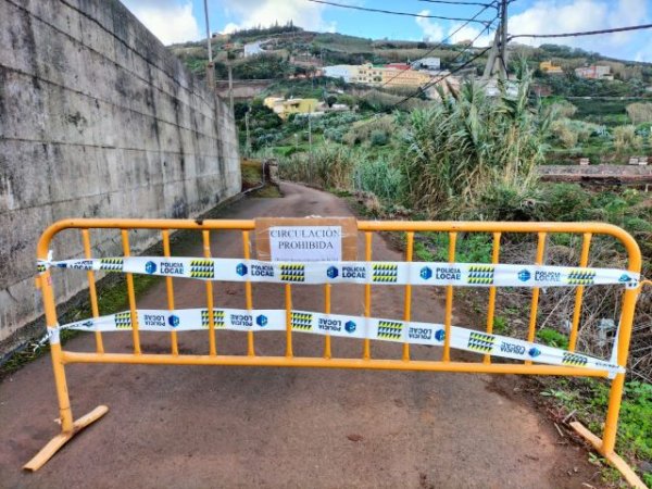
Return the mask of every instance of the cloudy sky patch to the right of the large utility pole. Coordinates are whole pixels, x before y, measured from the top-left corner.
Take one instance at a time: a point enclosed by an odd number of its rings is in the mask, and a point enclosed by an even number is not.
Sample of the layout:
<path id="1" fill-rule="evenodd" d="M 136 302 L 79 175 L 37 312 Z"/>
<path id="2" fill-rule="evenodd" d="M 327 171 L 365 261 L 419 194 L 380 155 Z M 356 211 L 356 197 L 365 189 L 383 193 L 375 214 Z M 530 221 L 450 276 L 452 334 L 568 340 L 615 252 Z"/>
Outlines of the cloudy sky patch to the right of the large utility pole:
<path id="1" fill-rule="evenodd" d="M 648 23 L 648 7 L 641 0 L 538 0 L 524 12 L 509 20 L 510 34 L 557 34 L 599 30 Z M 612 57 L 650 60 L 652 51 L 649 34 L 641 32 L 617 33 L 587 37 L 556 39 L 518 38 L 517 42 L 530 46 L 559 43 Z"/>

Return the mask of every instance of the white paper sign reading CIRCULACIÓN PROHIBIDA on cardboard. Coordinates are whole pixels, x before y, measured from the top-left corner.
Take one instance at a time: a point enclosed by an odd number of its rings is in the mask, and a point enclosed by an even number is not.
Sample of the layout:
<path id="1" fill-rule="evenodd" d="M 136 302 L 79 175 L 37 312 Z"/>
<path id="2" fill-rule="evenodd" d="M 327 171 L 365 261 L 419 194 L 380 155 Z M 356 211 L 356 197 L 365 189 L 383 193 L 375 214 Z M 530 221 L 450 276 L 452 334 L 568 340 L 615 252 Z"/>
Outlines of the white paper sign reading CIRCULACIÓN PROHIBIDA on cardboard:
<path id="1" fill-rule="evenodd" d="M 276 226 L 269 228 L 273 262 L 340 262 L 341 226 Z"/>

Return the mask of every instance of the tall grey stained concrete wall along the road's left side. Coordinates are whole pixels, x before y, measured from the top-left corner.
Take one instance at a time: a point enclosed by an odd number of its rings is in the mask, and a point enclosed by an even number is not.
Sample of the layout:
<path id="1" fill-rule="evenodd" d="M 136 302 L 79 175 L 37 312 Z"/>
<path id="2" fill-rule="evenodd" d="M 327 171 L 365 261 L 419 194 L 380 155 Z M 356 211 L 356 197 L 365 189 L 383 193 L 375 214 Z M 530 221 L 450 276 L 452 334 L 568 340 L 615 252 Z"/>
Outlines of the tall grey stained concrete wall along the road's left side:
<path id="1" fill-rule="evenodd" d="M 116 0 L 0 0 L 0 344 L 40 316 L 40 233 L 65 217 L 189 217 L 240 190 L 228 105 Z M 54 256 L 83 254 L 78 234 Z M 93 253 L 122 254 L 96 233 Z M 131 235 L 134 252 L 152 234 Z M 58 299 L 85 274 L 55 274 Z M 0 348 L 0 351 L 2 348 Z"/>

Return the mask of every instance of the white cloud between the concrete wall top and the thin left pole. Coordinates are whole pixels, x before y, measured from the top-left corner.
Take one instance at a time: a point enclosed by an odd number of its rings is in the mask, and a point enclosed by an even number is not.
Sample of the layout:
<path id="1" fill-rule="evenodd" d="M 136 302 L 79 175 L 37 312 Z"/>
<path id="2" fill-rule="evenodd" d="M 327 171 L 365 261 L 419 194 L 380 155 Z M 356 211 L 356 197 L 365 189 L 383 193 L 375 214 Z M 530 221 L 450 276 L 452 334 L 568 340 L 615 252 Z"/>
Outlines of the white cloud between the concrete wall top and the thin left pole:
<path id="1" fill-rule="evenodd" d="M 198 40 L 203 36 L 189 0 L 125 0 L 124 3 L 164 45 Z"/>

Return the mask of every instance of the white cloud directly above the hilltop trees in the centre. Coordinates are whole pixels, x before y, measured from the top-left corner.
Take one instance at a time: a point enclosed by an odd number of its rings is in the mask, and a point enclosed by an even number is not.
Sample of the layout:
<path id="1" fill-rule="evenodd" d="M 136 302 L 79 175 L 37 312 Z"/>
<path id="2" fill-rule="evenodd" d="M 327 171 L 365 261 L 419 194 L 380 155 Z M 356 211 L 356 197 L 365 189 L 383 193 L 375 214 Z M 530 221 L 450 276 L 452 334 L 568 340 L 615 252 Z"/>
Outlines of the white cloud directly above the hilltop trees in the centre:
<path id="1" fill-rule="evenodd" d="M 325 5 L 305 0 L 226 0 L 225 12 L 239 18 L 241 27 L 268 26 L 276 22 L 309 30 L 335 32 L 337 24 L 324 20 Z"/>

